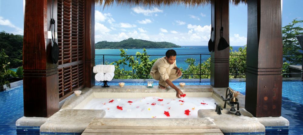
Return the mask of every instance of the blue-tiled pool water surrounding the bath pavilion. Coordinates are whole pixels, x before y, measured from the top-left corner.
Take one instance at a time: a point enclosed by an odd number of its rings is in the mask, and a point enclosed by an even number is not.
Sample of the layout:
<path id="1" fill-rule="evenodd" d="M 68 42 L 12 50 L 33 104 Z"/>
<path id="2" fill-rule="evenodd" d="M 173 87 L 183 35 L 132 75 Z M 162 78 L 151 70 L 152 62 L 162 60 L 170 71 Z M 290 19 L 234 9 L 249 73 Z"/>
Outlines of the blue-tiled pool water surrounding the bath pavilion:
<path id="1" fill-rule="evenodd" d="M 188 79 L 187 79 L 188 80 Z M 193 79 L 192 81 L 177 79 L 175 85 L 185 82 L 186 85 L 209 85 L 208 80 Z M 108 85 L 118 85 L 121 80 L 113 80 Z M 125 85 L 146 85 L 143 80 L 123 80 Z M 157 85 L 157 82 L 154 81 Z M 96 85 L 103 85 L 96 82 Z M 245 81 L 231 80 L 229 86 L 242 94 L 245 94 Z M 289 120 L 289 135 L 301 135 L 303 133 L 303 81 L 283 80 L 282 83 L 282 112 L 281 115 Z M 15 122 L 24 116 L 23 112 L 23 86 L 17 86 L 10 90 L 0 92 L 0 134 L 16 134 Z"/>

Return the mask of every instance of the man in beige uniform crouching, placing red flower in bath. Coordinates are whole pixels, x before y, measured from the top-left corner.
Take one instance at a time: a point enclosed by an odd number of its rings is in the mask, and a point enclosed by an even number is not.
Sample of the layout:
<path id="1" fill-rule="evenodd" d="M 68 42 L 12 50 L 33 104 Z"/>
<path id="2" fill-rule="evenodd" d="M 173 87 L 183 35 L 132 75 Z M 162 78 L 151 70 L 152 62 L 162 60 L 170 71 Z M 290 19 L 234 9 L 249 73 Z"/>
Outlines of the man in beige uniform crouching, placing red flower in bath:
<path id="1" fill-rule="evenodd" d="M 170 86 L 176 90 L 176 96 L 181 98 L 180 95 L 183 95 L 183 93 L 172 83 L 172 81 L 182 75 L 181 70 L 176 65 L 176 56 L 175 50 L 168 50 L 165 56 L 158 59 L 151 67 L 150 75 L 155 80 L 159 80 L 159 88 L 166 89 L 166 87 Z"/>

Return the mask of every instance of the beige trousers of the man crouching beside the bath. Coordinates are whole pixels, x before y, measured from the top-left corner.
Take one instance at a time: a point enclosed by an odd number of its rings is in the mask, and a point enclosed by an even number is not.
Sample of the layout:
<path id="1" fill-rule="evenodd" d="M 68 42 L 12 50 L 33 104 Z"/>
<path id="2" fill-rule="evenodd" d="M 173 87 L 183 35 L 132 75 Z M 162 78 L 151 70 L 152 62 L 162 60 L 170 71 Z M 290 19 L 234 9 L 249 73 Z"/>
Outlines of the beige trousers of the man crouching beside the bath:
<path id="1" fill-rule="evenodd" d="M 177 70 L 176 69 L 167 69 L 166 73 L 169 76 L 169 80 L 172 82 L 178 78 L 180 78 L 181 76 L 178 76 L 178 74 L 176 73 Z M 150 74 L 155 80 L 159 80 L 159 84 L 161 84 L 162 86 L 166 86 L 167 84 L 165 83 L 165 80 L 162 79 L 162 77 L 160 76 L 159 71 L 155 72 L 154 74 Z"/>

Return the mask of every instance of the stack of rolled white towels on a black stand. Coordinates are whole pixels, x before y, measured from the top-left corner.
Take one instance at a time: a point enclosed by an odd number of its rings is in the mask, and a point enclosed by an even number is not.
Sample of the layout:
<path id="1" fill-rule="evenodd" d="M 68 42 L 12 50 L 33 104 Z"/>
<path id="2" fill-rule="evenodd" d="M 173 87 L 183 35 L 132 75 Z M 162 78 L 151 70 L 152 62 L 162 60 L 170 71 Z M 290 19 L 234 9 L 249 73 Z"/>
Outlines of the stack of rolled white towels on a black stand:
<path id="1" fill-rule="evenodd" d="M 111 81 L 115 76 L 115 65 L 96 65 L 93 72 L 97 81 Z"/>

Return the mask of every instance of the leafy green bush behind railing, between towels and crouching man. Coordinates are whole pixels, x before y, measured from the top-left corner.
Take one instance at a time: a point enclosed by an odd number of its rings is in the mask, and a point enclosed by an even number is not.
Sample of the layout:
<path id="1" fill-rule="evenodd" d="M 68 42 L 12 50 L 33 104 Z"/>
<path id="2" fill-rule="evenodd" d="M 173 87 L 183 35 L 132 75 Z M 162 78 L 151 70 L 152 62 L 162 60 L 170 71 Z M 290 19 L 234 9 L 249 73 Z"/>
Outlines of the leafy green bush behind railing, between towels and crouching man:
<path id="1" fill-rule="evenodd" d="M 149 60 L 150 56 L 147 56 L 146 49 L 143 49 L 143 53 L 136 53 L 136 56 L 127 55 L 126 51 L 120 49 L 120 57 L 118 61 L 110 63 L 115 65 L 115 79 L 148 79 L 150 76 L 136 76 L 136 75 L 149 75 L 151 67 L 157 59 Z M 122 66 L 120 69 L 120 66 Z M 131 67 L 132 71 L 125 71 L 125 66 Z M 117 76 L 117 75 L 134 75 L 134 76 Z"/>

